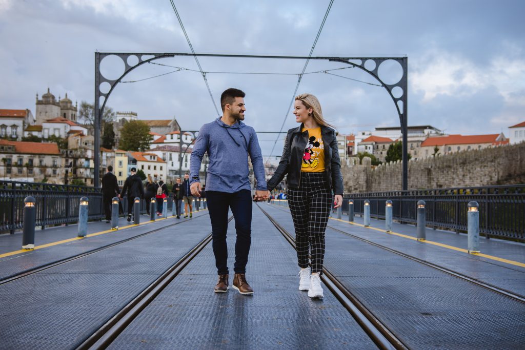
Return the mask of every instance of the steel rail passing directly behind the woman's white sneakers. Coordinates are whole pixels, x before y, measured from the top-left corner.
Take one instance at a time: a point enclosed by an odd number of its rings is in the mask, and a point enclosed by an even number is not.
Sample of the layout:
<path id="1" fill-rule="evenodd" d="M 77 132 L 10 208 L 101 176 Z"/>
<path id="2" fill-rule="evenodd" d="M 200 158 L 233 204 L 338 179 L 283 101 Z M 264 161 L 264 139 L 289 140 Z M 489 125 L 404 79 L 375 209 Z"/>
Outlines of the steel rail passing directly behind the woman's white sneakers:
<path id="1" fill-rule="evenodd" d="M 257 204 L 257 206 L 288 241 L 288 243 L 296 249 L 295 240 L 293 240 L 290 233 L 272 218 L 267 211 L 262 209 L 260 205 Z M 389 350 L 408 349 L 406 345 L 404 345 L 384 324 L 366 309 L 366 307 L 326 268 L 323 268 L 321 280 L 379 348 Z"/>

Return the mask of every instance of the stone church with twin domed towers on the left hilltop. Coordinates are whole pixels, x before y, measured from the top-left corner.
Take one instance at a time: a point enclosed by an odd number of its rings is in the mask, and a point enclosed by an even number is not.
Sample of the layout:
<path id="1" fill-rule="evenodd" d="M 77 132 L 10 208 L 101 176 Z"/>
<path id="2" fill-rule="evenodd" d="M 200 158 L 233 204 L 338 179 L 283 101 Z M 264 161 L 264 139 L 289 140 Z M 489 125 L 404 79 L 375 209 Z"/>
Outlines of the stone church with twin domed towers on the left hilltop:
<path id="1" fill-rule="evenodd" d="M 38 99 L 38 93 L 36 94 L 36 122 L 35 124 L 42 125 L 48 119 L 55 119 L 58 117 L 65 118 L 72 122 L 77 121 L 78 114 L 78 103 L 75 103 L 75 107 L 70 99 L 66 97 L 64 99 L 55 99 L 54 94 L 47 92 L 42 95 L 42 99 Z M 86 133 L 87 134 L 87 133 Z"/>

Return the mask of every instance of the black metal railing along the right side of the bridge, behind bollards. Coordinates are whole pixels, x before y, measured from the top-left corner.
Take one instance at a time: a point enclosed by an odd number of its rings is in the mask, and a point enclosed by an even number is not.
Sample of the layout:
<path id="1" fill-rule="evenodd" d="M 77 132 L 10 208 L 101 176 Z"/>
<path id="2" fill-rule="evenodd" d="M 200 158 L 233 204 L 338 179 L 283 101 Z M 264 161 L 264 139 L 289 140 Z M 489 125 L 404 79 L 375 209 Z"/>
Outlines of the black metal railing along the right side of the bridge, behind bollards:
<path id="1" fill-rule="evenodd" d="M 354 201 L 354 213 L 363 214 L 364 201 L 370 201 L 370 216 L 385 217 L 385 201 L 393 202 L 393 218 L 416 222 L 416 203 L 426 202 L 427 226 L 456 232 L 467 231 L 467 204 L 479 204 L 480 233 L 525 240 L 525 185 L 418 189 L 407 191 L 352 193 L 344 196 L 343 211 L 348 213 L 348 199 Z"/>

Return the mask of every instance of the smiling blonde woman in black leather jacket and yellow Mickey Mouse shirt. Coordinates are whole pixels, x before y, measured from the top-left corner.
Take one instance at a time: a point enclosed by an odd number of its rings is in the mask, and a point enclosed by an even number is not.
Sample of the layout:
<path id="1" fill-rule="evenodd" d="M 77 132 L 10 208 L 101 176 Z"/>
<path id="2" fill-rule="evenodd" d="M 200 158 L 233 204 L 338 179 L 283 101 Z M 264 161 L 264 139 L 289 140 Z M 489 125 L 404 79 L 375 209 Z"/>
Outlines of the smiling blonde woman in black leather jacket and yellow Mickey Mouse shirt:
<path id="1" fill-rule="evenodd" d="M 288 130 L 285 147 L 268 190 L 287 176 L 288 206 L 296 231 L 299 290 L 310 298 L 323 298 L 321 272 L 324 259 L 324 231 L 332 207 L 343 202 L 343 177 L 335 131 L 323 119 L 315 96 L 303 93 L 296 97 L 293 114 L 301 123 Z M 311 256 L 311 272 L 308 255 Z"/>

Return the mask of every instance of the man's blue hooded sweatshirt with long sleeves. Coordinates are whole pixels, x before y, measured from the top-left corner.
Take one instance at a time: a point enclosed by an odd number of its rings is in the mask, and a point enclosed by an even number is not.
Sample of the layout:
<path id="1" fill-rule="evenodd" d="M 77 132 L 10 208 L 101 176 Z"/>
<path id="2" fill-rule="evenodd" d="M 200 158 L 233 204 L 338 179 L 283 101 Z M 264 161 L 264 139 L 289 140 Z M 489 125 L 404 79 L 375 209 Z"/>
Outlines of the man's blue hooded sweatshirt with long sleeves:
<path id="1" fill-rule="evenodd" d="M 190 184 L 199 182 L 198 172 L 206 152 L 209 157 L 207 191 L 233 193 L 241 189 L 251 190 L 248 154 L 257 179 L 257 189 L 267 189 L 259 141 L 251 126 L 241 121 L 228 125 L 220 118 L 204 124 L 190 158 Z"/>

